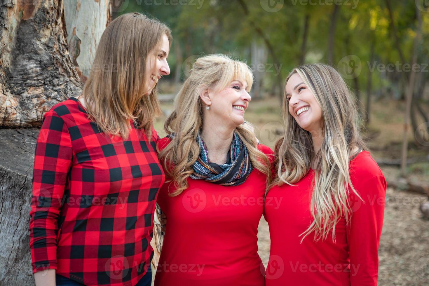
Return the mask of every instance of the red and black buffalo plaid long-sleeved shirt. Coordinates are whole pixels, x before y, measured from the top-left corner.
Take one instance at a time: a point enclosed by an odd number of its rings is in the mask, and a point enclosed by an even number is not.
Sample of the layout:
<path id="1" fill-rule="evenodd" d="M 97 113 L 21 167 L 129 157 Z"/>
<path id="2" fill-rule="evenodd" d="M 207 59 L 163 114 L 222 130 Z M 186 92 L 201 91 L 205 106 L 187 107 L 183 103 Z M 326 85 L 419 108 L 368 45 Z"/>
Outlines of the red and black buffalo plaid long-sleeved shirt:
<path id="1" fill-rule="evenodd" d="M 85 285 L 134 285 L 153 249 L 155 199 L 165 176 L 151 141 L 130 121 L 127 140 L 106 135 L 74 97 L 44 114 L 30 211 L 33 273 Z"/>

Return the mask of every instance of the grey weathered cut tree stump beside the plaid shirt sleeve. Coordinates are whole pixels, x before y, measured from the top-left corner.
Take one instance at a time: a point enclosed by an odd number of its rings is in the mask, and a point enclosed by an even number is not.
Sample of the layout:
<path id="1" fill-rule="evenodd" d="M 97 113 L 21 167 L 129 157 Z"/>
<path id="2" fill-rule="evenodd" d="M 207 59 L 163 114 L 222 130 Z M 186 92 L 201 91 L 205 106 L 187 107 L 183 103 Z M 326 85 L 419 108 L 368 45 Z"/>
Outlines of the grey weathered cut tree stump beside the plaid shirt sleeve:
<path id="1" fill-rule="evenodd" d="M 0 285 L 34 285 L 30 200 L 39 129 L 0 129 Z"/>

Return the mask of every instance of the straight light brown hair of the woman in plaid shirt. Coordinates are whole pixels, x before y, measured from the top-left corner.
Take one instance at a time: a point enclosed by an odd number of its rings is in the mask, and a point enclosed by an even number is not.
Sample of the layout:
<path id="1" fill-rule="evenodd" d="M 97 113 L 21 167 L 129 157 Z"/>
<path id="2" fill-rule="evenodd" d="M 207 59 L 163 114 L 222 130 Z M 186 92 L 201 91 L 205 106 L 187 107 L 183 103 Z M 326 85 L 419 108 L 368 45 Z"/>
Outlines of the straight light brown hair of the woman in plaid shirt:
<path id="1" fill-rule="evenodd" d="M 119 16 L 104 30 L 83 89 L 88 117 L 103 132 L 128 138 L 133 120 L 151 140 L 154 118 L 162 111 L 156 86 L 144 95 L 145 63 L 163 35 L 171 47 L 169 27 L 138 12 Z"/>

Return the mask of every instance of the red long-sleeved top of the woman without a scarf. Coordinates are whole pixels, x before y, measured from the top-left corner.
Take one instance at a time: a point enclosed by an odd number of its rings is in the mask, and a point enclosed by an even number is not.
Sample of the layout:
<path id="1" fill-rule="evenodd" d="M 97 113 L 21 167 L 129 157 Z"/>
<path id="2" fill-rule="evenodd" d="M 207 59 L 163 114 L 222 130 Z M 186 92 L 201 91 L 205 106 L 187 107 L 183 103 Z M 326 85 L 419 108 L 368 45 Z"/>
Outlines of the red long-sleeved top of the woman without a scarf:
<path id="1" fill-rule="evenodd" d="M 314 242 L 314 232 L 300 243 L 312 221 L 310 202 L 314 171 L 296 187 L 272 187 L 265 200 L 271 250 L 266 286 L 373 286 L 378 277 L 378 245 L 384 216 L 386 180 L 368 151 L 350 161 L 350 178 L 360 200 L 350 194 L 351 220 L 332 235 Z M 280 202 L 275 204 L 274 202 Z"/>

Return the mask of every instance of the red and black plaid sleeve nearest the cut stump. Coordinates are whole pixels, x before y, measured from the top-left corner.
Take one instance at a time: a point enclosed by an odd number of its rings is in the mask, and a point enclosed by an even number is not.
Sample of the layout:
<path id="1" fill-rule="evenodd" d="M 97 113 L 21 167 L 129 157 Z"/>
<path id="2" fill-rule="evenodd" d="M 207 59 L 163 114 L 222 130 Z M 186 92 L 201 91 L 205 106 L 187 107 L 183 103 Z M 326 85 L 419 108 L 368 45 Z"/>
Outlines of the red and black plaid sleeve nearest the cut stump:
<path id="1" fill-rule="evenodd" d="M 34 156 L 30 211 L 33 273 L 57 269 L 57 219 L 72 157 L 72 144 L 66 124 L 54 111 L 46 112 Z"/>

